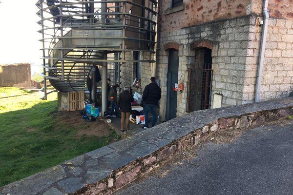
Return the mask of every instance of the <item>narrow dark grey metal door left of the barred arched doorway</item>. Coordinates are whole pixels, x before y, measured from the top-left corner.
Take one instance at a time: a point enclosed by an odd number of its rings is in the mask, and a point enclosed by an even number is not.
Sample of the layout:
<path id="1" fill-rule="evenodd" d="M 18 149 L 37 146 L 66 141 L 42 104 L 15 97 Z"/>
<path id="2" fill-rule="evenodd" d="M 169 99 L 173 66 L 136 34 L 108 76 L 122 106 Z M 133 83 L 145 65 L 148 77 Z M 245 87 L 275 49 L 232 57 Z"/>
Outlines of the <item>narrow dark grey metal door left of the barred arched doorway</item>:
<path id="1" fill-rule="evenodd" d="M 169 50 L 168 75 L 167 75 L 167 113 L 166 119 L 170 120 L 177 114 L 177 91 L 174 91 L 175 83 L 178 82 L 178 51 Z"/>

